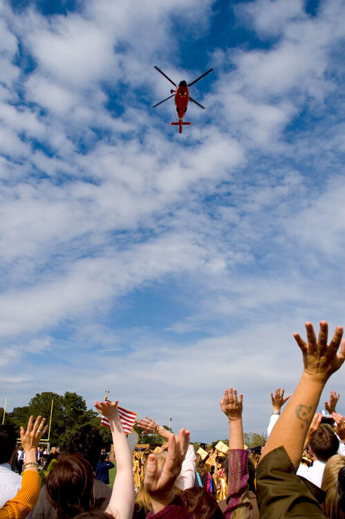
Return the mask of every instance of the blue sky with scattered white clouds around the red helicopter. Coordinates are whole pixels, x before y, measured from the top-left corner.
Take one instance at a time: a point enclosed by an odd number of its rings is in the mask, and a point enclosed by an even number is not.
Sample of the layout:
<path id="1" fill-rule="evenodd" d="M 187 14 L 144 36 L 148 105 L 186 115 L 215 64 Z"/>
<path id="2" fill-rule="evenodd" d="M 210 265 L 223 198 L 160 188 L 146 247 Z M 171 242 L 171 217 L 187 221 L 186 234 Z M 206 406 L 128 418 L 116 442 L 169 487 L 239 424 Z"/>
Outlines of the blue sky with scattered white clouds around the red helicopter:
<path id="1" fill-rule="evenodd" d="M 0 387 L 111 390 L 192 438 L 344 325 L 341 0 L 0 0 Z M 190 82 L 179 135 L 170 84 Z M 342 394 L 344 374 L 328 384 Z"/>

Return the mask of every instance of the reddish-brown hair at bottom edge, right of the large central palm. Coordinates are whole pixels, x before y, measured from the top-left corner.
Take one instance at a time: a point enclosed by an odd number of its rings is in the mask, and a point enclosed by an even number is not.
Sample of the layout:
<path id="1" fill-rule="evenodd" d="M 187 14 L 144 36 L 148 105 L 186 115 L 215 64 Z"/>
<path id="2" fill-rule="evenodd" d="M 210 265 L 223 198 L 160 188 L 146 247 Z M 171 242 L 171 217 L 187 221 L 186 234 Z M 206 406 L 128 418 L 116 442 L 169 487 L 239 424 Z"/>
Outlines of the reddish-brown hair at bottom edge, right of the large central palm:
<path id="1" fill-rule="evenodd" d="M 223 512 L 218 507 L 216 498 L 207 490 L 193 486 L 184 490 L 180 496 L 194 519 L 223 519 Z"/>

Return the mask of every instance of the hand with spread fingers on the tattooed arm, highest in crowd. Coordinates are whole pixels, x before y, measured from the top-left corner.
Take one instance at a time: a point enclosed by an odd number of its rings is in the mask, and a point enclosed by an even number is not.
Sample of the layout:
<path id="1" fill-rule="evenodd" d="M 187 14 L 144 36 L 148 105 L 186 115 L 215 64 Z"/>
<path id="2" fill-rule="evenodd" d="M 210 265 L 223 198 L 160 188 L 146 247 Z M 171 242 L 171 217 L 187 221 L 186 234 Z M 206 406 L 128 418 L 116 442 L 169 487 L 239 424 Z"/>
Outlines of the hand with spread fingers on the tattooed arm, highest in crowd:
<path id="1" fill-rule="evenodd" d="M 326 383 L 331 374 L 339 370 L 345 360 L 345 340 L 342 340 L 343 328 L 337 326 L 330 344 L 327 345 L 328 324 L 320 322 L 319 336 L 316 338 L 311 322 L 306 322 L 307 341 L 299 334 L 294 334 L 295 340 L 303 354 L 304 374 L 310 376 L 313 381 Z M 340 350 L 337 353 L 337 350 Z"/>

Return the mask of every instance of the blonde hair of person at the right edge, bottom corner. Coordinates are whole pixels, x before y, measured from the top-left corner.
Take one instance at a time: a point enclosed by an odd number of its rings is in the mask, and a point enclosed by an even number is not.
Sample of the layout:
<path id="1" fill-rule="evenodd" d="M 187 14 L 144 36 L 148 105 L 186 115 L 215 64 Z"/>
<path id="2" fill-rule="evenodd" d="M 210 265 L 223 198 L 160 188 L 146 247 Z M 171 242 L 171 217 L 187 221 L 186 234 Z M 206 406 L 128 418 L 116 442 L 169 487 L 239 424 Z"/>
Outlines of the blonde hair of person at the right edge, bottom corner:
<path id="1" fill-rule="evenodd" d="M 328 519 L 345 519 L 345 513 L 338 507 L 337 480 L 341 468 L 345 466 L 345 456 L 335 454 L 328 459 L 322 477 L 321 489 L 326 492 L 326 499 L 321 509 Z"/>

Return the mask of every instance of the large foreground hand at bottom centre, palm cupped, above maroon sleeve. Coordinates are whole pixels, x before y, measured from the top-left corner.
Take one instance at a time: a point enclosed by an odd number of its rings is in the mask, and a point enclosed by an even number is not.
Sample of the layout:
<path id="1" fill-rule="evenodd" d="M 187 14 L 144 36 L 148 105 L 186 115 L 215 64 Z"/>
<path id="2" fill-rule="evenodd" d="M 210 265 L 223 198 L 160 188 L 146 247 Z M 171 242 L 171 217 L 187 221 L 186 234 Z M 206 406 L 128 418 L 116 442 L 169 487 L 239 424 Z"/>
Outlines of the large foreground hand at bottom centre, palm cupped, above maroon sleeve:
<path id="1" fill-rule="evenodd" d="M 189 430 L 180 429 L 177 437 L 169 437 L 167 461 L 162 471 L 158 471 L 157 458 L 150 454 L 144 477 L 144 488 L 149 493 L 153 511 L 158 513 L 174 499 L 174 483 L 189 446 Z"/>

